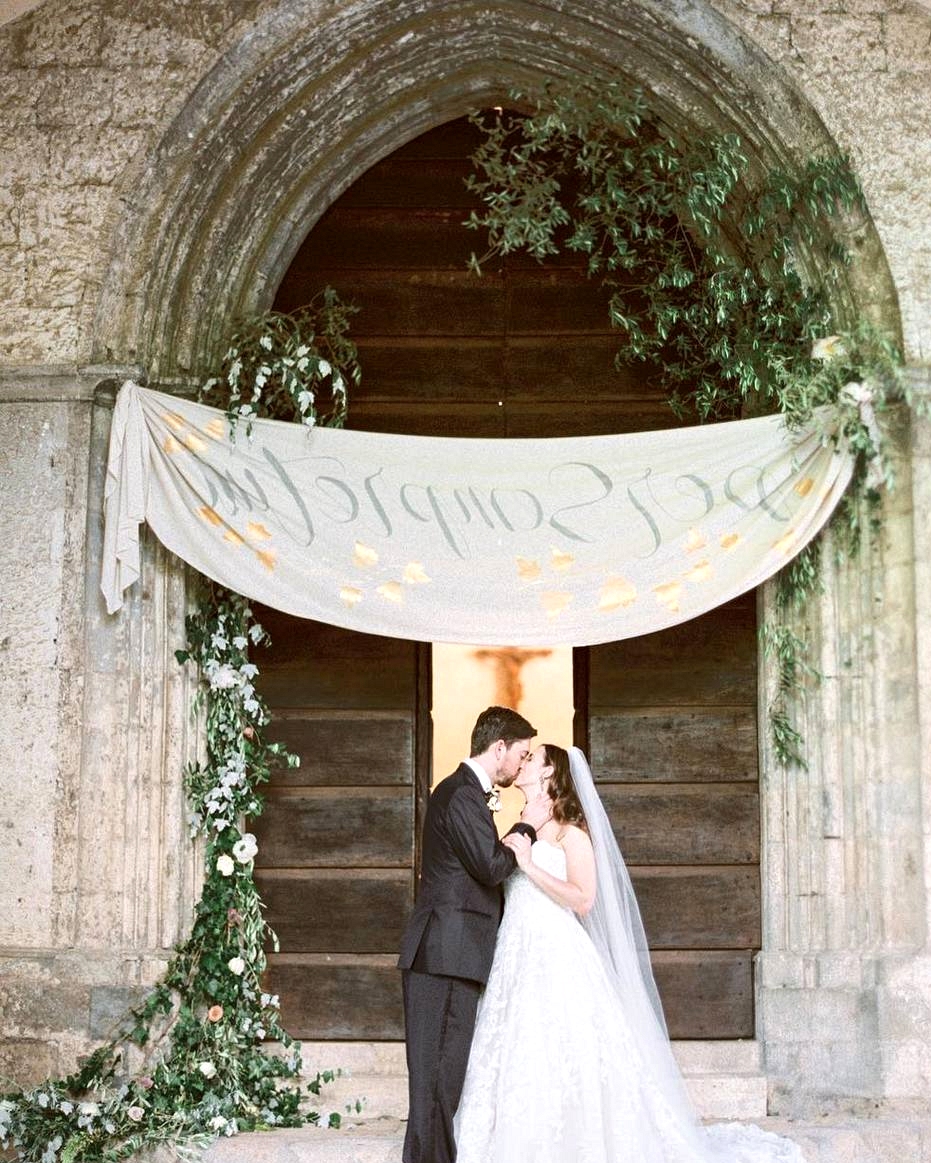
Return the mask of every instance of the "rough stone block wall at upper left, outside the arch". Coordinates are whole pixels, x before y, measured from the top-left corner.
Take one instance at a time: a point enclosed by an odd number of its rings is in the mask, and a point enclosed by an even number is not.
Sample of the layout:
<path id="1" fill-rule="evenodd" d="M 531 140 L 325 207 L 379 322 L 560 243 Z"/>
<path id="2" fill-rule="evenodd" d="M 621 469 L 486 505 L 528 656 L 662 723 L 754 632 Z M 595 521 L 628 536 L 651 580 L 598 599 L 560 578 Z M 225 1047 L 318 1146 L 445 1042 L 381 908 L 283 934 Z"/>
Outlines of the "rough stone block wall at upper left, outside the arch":
<path id="1" fill-rule="evenodd" d="M 260 8 L 46 0 L 0 27 L 0 361 L 89 361 L 119 194 Z"/>

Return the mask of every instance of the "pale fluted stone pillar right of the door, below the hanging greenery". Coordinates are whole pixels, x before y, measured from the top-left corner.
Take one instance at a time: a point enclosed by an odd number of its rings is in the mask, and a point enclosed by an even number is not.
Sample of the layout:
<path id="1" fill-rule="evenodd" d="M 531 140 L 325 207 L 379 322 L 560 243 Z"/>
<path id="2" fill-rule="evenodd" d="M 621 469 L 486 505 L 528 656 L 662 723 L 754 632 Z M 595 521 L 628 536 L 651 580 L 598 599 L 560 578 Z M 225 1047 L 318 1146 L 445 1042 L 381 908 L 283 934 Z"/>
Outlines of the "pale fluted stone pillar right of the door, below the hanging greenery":
<path id="1" fill-rule="evenodd" d="M 758 1030 L 776 1113 L 901 1105 L 926 1084 L 928 1064 L 918 1062 L 926 1030 L 910 1029 L 900 1003 L 912 990 L 926 1014 L 931 1000 L 926 641 L 923 664 L 916 654 L 929 635 L 931 563 L 915 521 L 931 501 L 930 442 L 928 421 L 904 405 L 883 427 L 898 483 L 882 530 L 871 537 L 865 529 L 853 556 L 840 555 L 829 533 L 823 593 L 795 619 L 823 676 L 796 711 L 808 770 L 778 763 L 766 694 L 760 708 Z M 868 522 L 866 506 L 859 515 Z M 774 616 L 771 590 L 762 607 Z M 766 692 L 773 675 L 764 668 Z"/>

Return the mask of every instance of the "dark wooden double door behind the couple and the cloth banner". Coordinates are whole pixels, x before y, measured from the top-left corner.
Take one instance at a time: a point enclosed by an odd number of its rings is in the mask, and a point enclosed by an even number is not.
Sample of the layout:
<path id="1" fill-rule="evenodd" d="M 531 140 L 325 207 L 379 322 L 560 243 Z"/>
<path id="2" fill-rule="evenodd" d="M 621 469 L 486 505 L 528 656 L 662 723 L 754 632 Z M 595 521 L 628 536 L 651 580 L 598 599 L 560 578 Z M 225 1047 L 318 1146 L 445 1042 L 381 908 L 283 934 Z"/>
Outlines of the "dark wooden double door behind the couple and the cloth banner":
<path id="1" fill-rule="evenodd" d="M 389 155 L 330 207 L 282 279 L 279 308 L 324 285 L 360 307 L 364 383 L 350 427 L 511 437 L 671 427 L 651 369 L 615 370 L 616 337 L 580 266 L 516 258 L 468 273 L 480 240 L 463 228 L 463 179 L 475 143 L 459 119 Z M 256 825 L 257 876 L 281 941 L 271 987 L 296 1036 L 401 1037 L 394 961 L 423 806 L 444 773 L 431 763 L 434 651 L 264 620 L 273 729 L 302 756 Z M 573 670 L 568 721 L 574 709 L 574 741 L 592 755 L 631 864 L 671 1033 L 752 1037 L 754 597 L 576 650 Z M 463 714 L 465 751 L 474 715 Z"/>

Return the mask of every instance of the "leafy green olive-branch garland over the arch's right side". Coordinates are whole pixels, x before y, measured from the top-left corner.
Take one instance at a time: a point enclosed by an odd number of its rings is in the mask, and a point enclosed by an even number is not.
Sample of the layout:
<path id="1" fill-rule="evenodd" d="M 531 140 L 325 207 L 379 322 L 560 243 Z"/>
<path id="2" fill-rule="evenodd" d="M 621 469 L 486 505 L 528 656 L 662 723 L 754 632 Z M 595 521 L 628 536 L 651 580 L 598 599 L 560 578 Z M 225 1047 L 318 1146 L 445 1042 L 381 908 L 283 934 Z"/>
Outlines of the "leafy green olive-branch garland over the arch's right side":
<path id="1" fill-rule="evenodd" d="M 510 95 L 530 112 L 472 119 L 484 140 L 468 185 L 484 205 L 466 224 L 488 237 L 472 269 L 516 250 L 576 254 L 604 291 L 616 364 L 651 361 L 682 419 L 781 412 L 797 426 L 837 406 L 857 463 L 832 527 L 855 544 L 861 499 L 875 506 L 893 484 L 874 414 L 908 390 L 893 341 L 831 307 L 850 262 L 838 227 L 865 209 L 847 159 L 760 174 L 736 135 L 683 141 L 617 83 Z M 818 555 L 816 542 L 779 575 L 778 618 L 761 628 L 778 663 L 774 752 L 802 766 L 790 702 L 817 676 L 789 623 L 818 590 Z"/>

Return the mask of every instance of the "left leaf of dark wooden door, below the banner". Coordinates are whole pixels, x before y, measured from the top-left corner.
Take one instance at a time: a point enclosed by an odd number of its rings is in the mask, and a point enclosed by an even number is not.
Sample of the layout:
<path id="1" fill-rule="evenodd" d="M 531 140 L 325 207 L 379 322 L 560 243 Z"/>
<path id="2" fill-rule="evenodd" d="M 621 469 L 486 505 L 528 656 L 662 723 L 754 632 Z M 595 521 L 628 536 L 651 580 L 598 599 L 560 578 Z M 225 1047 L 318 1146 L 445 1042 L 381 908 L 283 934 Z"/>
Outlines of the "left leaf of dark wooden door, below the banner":
<path id="1" fill-rule="evenodd" d="M 414 894 L 414 642 L 257 609 L 272 772 L 252 825 L 256 880 L 280 941 L 264 986 L 298 1037 L 402 1036 L 400 934 Z"/>

